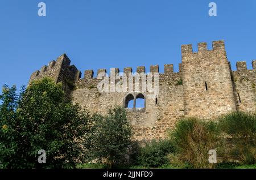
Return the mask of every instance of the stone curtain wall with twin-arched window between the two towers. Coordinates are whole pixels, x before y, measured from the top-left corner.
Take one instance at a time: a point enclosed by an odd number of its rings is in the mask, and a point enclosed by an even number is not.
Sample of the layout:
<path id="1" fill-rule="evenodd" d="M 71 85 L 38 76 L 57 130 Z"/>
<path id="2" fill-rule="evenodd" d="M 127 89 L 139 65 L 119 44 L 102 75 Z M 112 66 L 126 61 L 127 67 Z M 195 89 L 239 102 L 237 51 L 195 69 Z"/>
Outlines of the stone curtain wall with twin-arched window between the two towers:
<path id="1" fill-rule="evenodd" d="M 158 68 L 154 67 L 151 66 L 151 72 L 158 72 Z M 158 96 L 151 98 L 151 93 L 143 92 L 145 108 L 127 109 L 127 117 L 134 126 L 134 138 L 138 140 L 166 137 L 168 129 L 175 125 L 176 119 L 184 115 L 183 86 L 177 84 L 181 79 L 181 72 L 174 73 L 173 65 L 166 65 L 164 69 L 165 72 L 159 75 Z M 106 70 L 98 70 L 98 74 L 100 72 Z M 132 69 L 125 68 L 124 72 L 132 72 Z M 144 72 L 144 67 L 138 67 L 137 72 Z M 85 77 L 77 80 L 76 89 L 72 92 L 73 101 L 92 113 L 101 114 L 108 113 L 115 105 L 124 106 L 126 95 L 133 92 L 99 92 L 97 85 L 101 79 L 93 78 L 92 74 L 92 70 L 86 71 Z"/>

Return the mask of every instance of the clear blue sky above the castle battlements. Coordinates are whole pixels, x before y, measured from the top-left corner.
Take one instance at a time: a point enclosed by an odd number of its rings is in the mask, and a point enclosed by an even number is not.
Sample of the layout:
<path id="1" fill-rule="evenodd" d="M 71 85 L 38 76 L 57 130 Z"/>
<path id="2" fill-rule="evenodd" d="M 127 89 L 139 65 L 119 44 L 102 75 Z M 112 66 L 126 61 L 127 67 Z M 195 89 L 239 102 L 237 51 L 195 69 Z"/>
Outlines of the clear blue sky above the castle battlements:
<path id="1" fill-rule="evenodd" d="M 38 16 L 45 2 L 47 16 Z M 217 16 L 208 4 L 217 3 Z M 0 84 L 27 84 L 32 72 L 67 53 L 84 70 L 181 63 L 180 46 L 225 40 L 228 59 L 256 59 L 256 1 L 0 0 Z"/>

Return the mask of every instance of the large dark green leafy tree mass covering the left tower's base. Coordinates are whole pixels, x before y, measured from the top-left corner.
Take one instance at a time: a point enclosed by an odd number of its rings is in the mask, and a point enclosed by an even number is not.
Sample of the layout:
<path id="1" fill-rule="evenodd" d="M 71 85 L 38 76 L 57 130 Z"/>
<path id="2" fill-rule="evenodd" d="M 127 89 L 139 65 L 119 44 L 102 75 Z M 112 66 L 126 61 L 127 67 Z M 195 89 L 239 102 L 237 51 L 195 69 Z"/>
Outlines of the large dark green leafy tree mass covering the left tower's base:
<path id="1" fill-rule="evenodd" d="M 61 84 L 48 78 L 32 82 L 20 97 L 15 91 L 1 95 L 1 168 L 75 167 L 85 156 L 79 142 L 89 132 L 89 113 L 65 101 Z M 40 149 L 46 164 L 38 163 Z"/>

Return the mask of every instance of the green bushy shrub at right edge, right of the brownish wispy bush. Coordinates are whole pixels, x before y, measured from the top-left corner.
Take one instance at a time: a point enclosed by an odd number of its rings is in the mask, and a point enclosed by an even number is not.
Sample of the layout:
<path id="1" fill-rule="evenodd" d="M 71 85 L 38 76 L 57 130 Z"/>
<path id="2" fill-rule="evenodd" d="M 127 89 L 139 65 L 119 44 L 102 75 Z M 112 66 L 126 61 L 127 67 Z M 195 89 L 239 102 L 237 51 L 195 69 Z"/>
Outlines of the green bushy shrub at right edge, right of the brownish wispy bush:
<path id="1" fill-rule="evenodd" d="M 256 117 L 234 112 L 219 118 L 224 132 L 225 161 L 233 160 L 242 164 L 256 163 Z"/>

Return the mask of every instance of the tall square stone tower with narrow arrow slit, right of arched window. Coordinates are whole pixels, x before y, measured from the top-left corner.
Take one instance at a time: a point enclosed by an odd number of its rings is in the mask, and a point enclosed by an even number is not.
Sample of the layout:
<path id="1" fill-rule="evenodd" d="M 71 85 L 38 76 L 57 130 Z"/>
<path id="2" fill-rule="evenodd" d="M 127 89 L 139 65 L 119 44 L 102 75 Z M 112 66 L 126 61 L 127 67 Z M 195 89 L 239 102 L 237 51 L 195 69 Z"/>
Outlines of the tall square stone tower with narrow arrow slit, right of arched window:
<path id="1" fill-rule="evenodd" d="M 185 115 L 209 118 L 236 110 L 230 66 L 224 41 L 181 46 Z"/>

